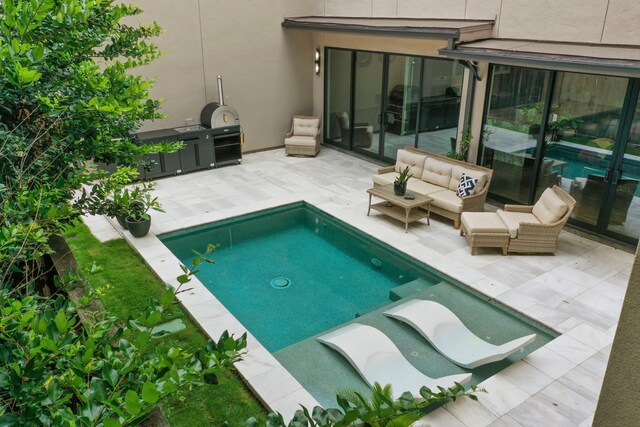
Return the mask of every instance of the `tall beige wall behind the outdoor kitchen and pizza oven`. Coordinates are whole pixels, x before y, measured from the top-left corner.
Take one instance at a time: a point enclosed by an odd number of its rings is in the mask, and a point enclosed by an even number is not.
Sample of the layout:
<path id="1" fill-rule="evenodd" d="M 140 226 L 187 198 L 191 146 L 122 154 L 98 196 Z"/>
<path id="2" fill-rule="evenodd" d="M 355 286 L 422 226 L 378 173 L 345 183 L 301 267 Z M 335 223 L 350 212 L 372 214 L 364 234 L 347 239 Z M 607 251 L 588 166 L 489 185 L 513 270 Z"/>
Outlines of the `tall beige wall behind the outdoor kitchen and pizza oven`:
<path id="1" fill-rule="evenodd" d="M 312 35 L 281 28 L 284 16 L 312 14 L 311 0 L 134 0 L 164 34 L 164 55 L 141 69 L 164 99 L 166 118 L 142 130 L 200 122 L 200 110 L 218 100 L 216 76 L 224 78 L 225 103 L 238 110 L 245 151 L 284 144 L 293 114 L 310 114 L 313 96 Z"/>

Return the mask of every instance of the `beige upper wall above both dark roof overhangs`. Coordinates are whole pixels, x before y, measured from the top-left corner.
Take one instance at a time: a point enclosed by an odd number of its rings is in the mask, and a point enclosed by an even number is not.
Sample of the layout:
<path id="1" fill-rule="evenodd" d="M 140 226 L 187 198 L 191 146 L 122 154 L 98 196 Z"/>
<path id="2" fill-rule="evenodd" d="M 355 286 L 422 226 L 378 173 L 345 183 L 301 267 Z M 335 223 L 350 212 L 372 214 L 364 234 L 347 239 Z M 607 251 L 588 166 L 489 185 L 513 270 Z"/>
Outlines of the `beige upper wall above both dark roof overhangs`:
<path id="1" fill-rule="evenodd" d="M 326 16 L 496 19 L 494 36 L 640 44 L 638 0 L 314 0 Z"/>

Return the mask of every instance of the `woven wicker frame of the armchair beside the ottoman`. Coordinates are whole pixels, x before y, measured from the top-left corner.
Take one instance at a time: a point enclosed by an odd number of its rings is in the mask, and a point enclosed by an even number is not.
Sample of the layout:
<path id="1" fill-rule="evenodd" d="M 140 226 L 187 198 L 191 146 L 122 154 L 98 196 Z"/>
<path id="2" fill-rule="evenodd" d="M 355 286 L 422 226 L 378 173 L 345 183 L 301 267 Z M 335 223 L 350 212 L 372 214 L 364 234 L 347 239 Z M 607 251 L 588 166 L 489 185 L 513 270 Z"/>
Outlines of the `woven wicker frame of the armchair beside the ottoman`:
<path id="1" fill-rule="evenodd" d="M 557 221 L 545 224 L 540 222 L 520 222 L 517 236 L 509 239 L 509 252 L 520 253 L 555 253 L 558 248 L 558 236 L 566 224 L 576 201 L 566 191 L 553 186 L 553 192 L 562 199 L 568 209 Z M 542 198 L 542 197 L 541 197 Z M 540 202 L 540 201 L 539 201 Z M 498 211 L 498 215 L 503 221 L 511 217 L 522 217 L 522 214 L 532 214 L 533 206 L 505 205 L 503 211 Z M 512 215 L 514 214 L 514 215 Z M 506 223 L 506 221 L 505 221 Z"/>

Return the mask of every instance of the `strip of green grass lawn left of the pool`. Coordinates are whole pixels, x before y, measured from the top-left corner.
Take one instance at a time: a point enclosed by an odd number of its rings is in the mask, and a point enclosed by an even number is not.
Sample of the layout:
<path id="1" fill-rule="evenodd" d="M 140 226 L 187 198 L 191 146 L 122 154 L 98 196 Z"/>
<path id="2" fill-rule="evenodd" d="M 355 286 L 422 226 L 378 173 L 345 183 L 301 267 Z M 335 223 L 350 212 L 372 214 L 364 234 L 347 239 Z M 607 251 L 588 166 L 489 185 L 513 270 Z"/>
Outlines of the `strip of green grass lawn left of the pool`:
<path id="1" fill-rule="evenodd" d="M 91 283 L 106 310 L 126 319 L 141 312 L 152 297 L 160 295 L 163 283 L 149 270 L 140 256 L 122 240 L 100 243 L 84 224 L 69 229 L 65 237 L 86 280 Z M 201 347 L 205 335 L 181 306 L 175 305 L 169 318 L 181 318 L 187 328 L 158 340 L 158 346 Z M 217 339 L 217 337 L 215 337 Z M 265 410 L 235 372 L 223 371 L 218 385 L 204 384 L 181 390 L 162 402 L 162 409 L 174 427 L 244 425 L 254 416 L 264 422 Z"/>

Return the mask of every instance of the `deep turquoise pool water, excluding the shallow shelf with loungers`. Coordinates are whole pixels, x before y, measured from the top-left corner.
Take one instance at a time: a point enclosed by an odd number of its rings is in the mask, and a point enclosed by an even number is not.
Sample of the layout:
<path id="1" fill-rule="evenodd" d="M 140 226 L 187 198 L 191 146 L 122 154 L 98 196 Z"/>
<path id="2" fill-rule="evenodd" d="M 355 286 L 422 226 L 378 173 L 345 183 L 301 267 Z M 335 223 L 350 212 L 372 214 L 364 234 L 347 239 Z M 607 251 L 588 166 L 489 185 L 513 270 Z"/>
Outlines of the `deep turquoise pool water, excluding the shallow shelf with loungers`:
<path id="1" fill-rule="evenodd" d="M 185 265 L 193 250 L 220 245 L 197 277 L 271 352 L 390 303 L 392 288 L 417 277 L 440 281 L 306 204 L 161 240 Z"/>

